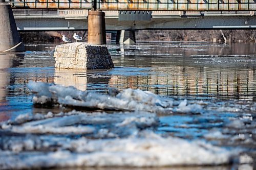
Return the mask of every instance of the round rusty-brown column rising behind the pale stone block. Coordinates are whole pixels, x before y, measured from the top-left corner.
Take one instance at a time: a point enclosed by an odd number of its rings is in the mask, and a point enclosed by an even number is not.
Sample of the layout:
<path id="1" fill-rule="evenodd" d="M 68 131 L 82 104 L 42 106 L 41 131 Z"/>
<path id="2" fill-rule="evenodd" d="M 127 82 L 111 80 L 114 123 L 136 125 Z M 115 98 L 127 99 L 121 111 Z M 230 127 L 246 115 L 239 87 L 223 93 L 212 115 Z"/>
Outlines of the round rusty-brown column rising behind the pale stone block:
<path id="1" fill-rule="evenodd" d="M 0 0 L 1 1 L 1 0 Z M 88 13 L 88 42 L 106 44 L 105 13 L 89 11 Z"/>

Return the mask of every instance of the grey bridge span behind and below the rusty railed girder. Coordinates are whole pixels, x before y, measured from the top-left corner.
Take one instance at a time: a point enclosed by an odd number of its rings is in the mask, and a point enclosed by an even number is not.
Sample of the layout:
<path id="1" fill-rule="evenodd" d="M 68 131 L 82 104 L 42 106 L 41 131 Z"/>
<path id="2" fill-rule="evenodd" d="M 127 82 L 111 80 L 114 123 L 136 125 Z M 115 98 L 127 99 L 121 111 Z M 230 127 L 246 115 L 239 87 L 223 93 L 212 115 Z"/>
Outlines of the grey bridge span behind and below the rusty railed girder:
<path id="1" fill-rule="evenodd" d="M 88 29 L 88 11 L 13 9 L 13 14 L 18 31 L 69 31 Z M 138 14 L 138 11 L 103 12 L 106 30 L 256 29 L 254 11 L 148 11 L 144 14 Z"/>

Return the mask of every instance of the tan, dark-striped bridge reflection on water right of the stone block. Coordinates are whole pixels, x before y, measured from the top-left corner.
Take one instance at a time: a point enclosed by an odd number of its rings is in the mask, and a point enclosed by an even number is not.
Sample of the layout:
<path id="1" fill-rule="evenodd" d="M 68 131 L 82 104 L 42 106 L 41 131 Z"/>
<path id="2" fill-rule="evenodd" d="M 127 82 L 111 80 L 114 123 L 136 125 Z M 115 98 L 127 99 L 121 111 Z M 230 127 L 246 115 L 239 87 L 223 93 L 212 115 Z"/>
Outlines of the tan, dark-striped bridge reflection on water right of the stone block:
<path id="1" fill-rule="evenodd" d="M 119 89 L 140 88 L 162 95 L 252 98 L 256 91 L 255 70 L 169 66 L 153 67 L 152 75 L 113 76 L 110 85 Z"/>

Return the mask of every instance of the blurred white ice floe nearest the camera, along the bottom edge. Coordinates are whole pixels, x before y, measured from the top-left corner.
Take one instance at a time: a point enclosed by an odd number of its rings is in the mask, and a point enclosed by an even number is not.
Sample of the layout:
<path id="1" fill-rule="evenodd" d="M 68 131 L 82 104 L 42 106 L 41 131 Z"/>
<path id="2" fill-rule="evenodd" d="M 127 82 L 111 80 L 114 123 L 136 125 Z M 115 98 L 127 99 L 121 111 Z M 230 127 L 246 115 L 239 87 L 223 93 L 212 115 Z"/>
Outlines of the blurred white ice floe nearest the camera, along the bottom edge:
<path id="1" fill-rule="evenodd" d="M 150 132 L 153 133 L 153 132 Z M 4 169 L 74 166 L 174 166 L 217 165 L 229 163 L 233 153 L 204 142 L 163 138 L 156 134 L 114 139 L 60 140 L 56 152 L 3 151 L 0 166 Z M 33 162 L 33 163 L 31 163 Z M 45 163 L 47 162 L 47 163 Z"/>

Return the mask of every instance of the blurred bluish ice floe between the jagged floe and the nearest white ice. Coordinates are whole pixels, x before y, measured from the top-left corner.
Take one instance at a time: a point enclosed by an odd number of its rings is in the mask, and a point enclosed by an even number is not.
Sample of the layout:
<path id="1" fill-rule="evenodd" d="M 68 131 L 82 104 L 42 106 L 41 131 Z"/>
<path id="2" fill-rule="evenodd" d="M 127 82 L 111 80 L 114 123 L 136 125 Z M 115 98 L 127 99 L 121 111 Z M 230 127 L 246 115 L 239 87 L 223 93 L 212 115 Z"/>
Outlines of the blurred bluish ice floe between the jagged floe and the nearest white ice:
<path id="1" fill-rule="evenodd" d="M 14 120 L 14 122 L 2 124 L 2 128 L 9 132 L 22 134 L 90 134 L 91 137 L 98 138 L 134 135 L 140 129 L 158 125 L 156 114 L 149 112 L 108 114 L 105 112 L 72 111 L 61 114 L 36 115 L 34 117 L 33 114 L 19 116 L 18 125 Z M 37 118 L 38 116 L 40 119 Z M 103 134 L 104 132 L 106 133 Z"/>

